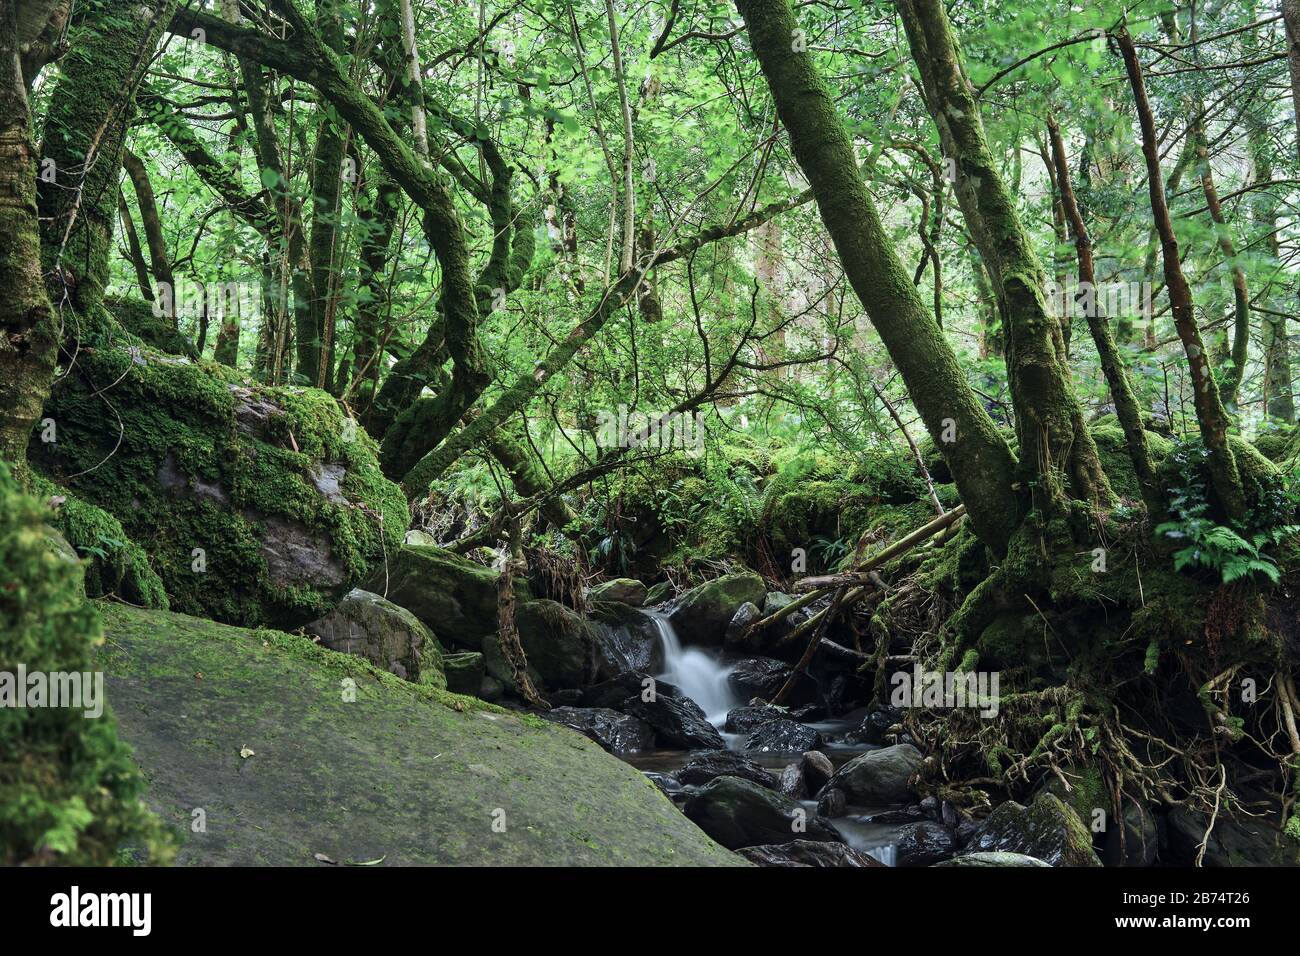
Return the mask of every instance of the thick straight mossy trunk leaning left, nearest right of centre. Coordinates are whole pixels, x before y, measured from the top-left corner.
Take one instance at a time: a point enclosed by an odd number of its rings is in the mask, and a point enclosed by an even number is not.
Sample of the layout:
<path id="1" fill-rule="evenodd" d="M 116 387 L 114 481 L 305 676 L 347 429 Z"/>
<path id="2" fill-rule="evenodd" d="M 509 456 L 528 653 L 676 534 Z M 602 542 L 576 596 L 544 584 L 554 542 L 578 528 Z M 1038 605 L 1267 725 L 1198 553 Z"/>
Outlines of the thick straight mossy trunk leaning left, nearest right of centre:
<path id="1" fill-rule="evenodd" d="M 831 92 L 796 43 L 788 0 L 736 5 L 845 274 L 942 450 L 976 532 L 1002 550 L 1023 514 L 1011 486 L 1015 458 L 885 235 Z"/>

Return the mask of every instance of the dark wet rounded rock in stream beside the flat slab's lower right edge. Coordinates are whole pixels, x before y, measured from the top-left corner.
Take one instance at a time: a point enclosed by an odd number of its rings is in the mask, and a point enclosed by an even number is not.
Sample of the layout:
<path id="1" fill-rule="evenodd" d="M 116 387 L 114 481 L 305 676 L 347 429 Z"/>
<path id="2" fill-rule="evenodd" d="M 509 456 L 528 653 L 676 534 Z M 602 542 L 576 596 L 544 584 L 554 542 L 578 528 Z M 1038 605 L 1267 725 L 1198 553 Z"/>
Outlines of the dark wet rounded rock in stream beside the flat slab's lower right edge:
<path id="1" fill-rule="evenodd" d="M 738 777 L 711 780 L 686 799 L 682 810 L 728 849 L 785 843 L 789 838 L 842 843 L 835 827 L 807 814 L 794 800 Z"/>

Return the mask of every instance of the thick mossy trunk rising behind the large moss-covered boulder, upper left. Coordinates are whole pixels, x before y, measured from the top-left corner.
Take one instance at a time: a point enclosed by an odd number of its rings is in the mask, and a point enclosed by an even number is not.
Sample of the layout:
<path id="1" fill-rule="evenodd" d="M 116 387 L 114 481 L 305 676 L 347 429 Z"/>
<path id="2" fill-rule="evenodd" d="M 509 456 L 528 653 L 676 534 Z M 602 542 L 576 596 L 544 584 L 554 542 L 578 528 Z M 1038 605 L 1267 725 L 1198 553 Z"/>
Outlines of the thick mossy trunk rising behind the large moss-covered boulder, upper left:
<path id="1" fill-rule="evenodd" d="M 108 255 L 117 216 L 118 176 L 135 91 L 148 69 L 174 0 L 88 8 L 72 34 L 46 113 L 38 183 L 42 263 L 56 310 L 70 306 L 82 337 L 103 317 Z"/>

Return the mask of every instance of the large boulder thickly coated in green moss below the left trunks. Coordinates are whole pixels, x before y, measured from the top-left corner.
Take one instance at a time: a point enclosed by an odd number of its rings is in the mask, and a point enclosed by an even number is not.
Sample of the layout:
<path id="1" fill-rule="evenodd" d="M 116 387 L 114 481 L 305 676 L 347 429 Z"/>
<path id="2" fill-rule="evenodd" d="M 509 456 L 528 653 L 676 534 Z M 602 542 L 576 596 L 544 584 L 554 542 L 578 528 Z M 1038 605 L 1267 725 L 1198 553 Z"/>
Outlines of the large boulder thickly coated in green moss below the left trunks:
<path id="1" fill-rule="evenodd" d="M 36 470 L 121 522 L 178 610 L 303 624 L 382 567 L 407 524 L 374 442 L 316 389 L 105 345 L 78 352 L 46 415 L 57 441 L 32 440 Z"/>

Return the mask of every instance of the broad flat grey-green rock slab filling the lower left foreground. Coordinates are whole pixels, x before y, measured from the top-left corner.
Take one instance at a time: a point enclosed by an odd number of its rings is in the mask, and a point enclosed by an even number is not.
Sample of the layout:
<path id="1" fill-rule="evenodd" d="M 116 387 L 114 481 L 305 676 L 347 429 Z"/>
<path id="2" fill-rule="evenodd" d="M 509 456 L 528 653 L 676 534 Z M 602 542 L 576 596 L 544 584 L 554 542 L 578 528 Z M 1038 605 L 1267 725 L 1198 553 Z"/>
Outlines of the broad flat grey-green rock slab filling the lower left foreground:
<path id="1" fill-rule="evenodd" d="M 540 718 L 278 631 L 103 605 L 122 736 L 183 864 L 729 865 L 650 780 Z M 205 830 L 191 829 L 204 809 Z M 495 826 L 494 826 L 495 825 Z"/>

